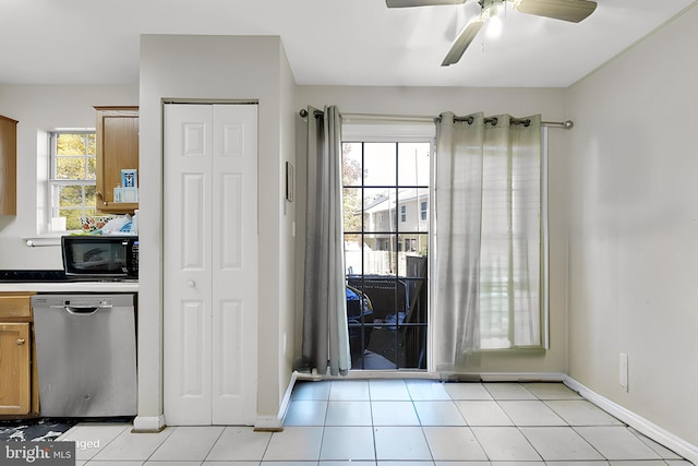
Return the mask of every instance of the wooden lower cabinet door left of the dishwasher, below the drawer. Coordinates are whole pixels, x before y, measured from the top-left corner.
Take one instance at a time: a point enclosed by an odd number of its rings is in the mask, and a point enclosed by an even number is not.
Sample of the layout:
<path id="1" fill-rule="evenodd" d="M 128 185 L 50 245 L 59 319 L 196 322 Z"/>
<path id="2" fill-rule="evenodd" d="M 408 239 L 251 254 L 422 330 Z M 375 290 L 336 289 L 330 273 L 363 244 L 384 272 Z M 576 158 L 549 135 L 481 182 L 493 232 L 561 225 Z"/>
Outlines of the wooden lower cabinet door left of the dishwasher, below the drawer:
<path id="1" fill-rule="evenodd" d="M 0 415 L 31 407 L 29 323 L 0 323 Z"/>

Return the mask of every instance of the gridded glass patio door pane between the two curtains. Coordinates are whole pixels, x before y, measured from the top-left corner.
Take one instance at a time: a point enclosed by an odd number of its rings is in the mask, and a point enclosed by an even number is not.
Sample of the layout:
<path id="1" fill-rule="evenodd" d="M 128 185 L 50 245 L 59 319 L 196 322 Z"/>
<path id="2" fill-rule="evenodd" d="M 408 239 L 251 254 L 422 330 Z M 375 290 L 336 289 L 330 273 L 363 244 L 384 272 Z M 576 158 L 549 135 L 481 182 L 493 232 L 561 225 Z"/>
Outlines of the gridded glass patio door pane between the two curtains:
<path id="1" fill-rule="evenodd" d="M 352 369 L 426 369 L 429 222 L 407 215 L 429 204 L 426 141 L 342 144 Z"/>

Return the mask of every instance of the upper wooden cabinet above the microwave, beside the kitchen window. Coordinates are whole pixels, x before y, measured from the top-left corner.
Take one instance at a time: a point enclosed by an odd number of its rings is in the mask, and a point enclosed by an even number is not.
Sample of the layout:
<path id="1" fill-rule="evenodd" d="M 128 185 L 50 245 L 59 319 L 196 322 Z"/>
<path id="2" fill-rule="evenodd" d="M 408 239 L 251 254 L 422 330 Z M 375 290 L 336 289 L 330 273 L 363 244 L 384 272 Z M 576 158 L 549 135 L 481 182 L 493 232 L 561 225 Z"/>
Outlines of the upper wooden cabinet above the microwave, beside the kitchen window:
<path id="1" fill-rule="evenodd" d="M 122 169 L 139 168 L 139 107 L 95 107 L 97 110 L 97 211 L 133 213 L 137 202 L 113 202 Z"/>

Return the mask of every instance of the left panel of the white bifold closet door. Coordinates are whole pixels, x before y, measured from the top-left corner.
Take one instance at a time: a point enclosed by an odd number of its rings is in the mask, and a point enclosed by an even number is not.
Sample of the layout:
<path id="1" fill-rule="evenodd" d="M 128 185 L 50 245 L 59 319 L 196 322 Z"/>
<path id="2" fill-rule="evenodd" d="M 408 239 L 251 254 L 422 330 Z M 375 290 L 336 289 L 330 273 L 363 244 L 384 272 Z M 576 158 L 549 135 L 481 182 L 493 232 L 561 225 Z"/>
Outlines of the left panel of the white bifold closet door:
<path id="1" fill-rule="evenodd" d="M 166 422 L 212 419 L 210 106 L 165 107 L 164 408 Z"/>

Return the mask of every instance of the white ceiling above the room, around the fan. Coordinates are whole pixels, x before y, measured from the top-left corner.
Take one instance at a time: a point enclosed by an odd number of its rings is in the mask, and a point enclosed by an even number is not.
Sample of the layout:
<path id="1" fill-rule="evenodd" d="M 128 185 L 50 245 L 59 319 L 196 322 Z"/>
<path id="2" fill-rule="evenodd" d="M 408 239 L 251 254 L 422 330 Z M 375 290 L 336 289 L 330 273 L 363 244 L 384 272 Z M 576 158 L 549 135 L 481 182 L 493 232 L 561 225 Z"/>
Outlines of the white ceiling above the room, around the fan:
<path id="1" fill-rule="evenodd" d="M 696 1 L 598 0 L 579 24 L 508 9 L 443 68 L 477 0 L 0 0 L 0 84 L 136 84 L 140 34 L 206 34 L 280 36 L 298 84 L 566 87 Z"/>

